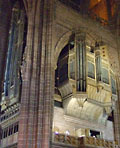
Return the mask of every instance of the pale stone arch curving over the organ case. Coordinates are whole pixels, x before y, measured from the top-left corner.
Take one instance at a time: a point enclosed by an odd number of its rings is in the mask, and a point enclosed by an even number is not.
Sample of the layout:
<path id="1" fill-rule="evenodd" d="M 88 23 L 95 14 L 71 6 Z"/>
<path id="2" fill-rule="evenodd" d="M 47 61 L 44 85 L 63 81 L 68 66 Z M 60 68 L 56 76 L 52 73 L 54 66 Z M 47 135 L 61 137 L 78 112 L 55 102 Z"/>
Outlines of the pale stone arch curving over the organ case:
<path id="1" fill-rule="evenodd" d="M 111 47 L 111 44 L 109 44 L 109 41 L 106 40 L 104 38 L 104 40 L 102 40 L 102 36 L 99 36 L 97 35 L 95 32 L 92 32 L 91 30 L 89 30 L 88 28 L 86 27 L 81 27 L 81 28 L 76 28 L 76 29 L 73 29 L 73 30 L 69 30 L 69 31 L 66 31 L 64 32 L 61 37 L 58 39 L 56 45 L 55 45 L 55 48 L 54 48 L 54 54 L 53 54 L 53 63 L 54 63 L 54 68 L 56 69 L 57 67 L 57 60 L 58 60 L 58 57 L 59 57 L 59 54 L 60 52 L 62 51 L 62 49 L 65 47 L 65 45 L 67 45 L 68 41 L 69 41 L 69 38 L 70 36 L 72 35 L 72 33 L 75 33 L 75 32 L 85 32 L 86 33 L 86 40 L 87 42 L 91 42 L 90 44 L 92 43 L 95 43 L 95 41 L 104 41 L 105 45 L 107 45 L 107 48 L 108 48 L 108 59 L 109 60 L 109 63 L 110 63 L 110 66 L 111 66 L 111 69 L 113 69 L 113 71 L 117 74 L 119 73 L 119 65 L 117 63 L 118 62 L 118 59 L 117 58 L 114 58 L 113 57 L 113 50 L 115 48 L 116 49 L 116 44 L 115 44 L 115 47 Z M 114 43 L 114 41 L 113 41 Z M 117 51 L 116 51 L 116 57 L 117 57 Z M 111 58 L 113 58 L 113 60 L 111 60 Z M 112 63 L 112 64 L 111 64 Z"/>

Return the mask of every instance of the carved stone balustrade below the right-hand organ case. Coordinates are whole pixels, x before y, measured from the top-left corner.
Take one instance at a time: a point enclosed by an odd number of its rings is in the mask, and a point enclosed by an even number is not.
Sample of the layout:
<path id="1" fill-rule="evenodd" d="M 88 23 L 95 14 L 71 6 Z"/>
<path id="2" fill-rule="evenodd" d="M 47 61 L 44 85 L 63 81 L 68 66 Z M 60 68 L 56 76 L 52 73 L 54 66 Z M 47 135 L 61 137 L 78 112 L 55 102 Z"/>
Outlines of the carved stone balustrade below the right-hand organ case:
<path id="1" fill-rule="evenodd" d="M 53 142 L 72 145 L 77 148 L 80 148 L 81 146 L 88 148 L 118 148 L 117 143 L 114 141 L 108 141 L 94 137 L 73 137 L 59 133 L 53 134 Z"/>

